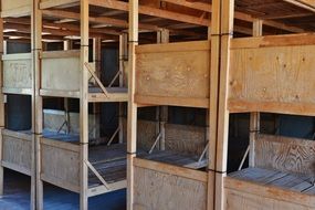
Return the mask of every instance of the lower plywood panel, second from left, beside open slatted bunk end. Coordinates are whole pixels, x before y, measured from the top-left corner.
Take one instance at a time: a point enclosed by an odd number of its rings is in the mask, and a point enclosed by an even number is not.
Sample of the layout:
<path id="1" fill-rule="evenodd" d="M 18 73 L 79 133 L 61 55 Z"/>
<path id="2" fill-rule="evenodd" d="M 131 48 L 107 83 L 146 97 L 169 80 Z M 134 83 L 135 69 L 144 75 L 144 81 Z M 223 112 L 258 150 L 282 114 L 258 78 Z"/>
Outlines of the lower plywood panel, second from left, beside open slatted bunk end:
<path id="1" fill-rule="evenodd" d="M 80 192 L 80 146 L 60 140 L 41 139 L 41 179 Z"/>

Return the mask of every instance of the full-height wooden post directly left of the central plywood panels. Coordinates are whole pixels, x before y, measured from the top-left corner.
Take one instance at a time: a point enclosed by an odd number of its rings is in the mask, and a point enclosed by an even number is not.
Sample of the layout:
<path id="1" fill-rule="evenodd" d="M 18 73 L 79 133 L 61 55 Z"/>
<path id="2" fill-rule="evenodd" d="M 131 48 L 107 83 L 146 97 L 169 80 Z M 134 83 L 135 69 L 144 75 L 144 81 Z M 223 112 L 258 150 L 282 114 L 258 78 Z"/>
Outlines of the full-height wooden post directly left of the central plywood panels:
<path id="1" fill-rule="evenodd" d="M 137 150 L 137 104 L 136 85 L 136 45 L 138 44 L 138 0 L 129 0 L 129 53 L 128 53 L 128 118 L 127 118 L 127 209 L 134 204 L 134 157 Z"/>

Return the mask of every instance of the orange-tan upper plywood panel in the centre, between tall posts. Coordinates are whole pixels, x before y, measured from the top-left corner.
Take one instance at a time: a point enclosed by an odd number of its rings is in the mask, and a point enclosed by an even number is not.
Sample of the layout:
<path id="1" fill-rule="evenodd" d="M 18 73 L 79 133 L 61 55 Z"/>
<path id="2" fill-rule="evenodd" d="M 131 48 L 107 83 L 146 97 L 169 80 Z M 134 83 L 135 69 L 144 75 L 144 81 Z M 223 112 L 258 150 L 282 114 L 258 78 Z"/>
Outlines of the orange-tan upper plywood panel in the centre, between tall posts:
<path id="1" fill-rule="evenodd" d="M 209 41 L 136 46 L 136 102 L 209 107 Z"/>

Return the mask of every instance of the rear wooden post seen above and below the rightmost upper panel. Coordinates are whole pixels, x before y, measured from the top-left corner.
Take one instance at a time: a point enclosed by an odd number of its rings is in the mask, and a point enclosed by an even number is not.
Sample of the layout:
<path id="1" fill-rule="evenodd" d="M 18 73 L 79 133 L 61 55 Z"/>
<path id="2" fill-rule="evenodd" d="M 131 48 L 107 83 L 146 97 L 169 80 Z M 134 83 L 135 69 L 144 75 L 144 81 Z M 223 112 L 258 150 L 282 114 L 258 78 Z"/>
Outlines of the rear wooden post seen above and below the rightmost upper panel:
<path id="1" fill-rule="evenodd" d="M 254 20 L 253 21 L 253 36 L 261 36 L 263 33 L 263 21 Z M 260 133 L 260 113 L 251 113 L 250 116 L 250 155 L 249 155 L 249 166 L 255 166 L 255 140 L 256 136 Z"/>

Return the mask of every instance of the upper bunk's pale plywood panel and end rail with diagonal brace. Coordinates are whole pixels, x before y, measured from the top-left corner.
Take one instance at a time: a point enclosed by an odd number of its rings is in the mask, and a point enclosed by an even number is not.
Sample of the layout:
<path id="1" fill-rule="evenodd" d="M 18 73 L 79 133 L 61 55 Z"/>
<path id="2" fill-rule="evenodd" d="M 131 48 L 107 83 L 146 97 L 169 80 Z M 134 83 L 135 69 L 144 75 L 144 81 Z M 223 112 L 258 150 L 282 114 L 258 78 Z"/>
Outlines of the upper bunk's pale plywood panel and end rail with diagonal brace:
<path id="1" fill-rule="evenodd" d="M 80 97 L 80 51 L 50 51 L 41 54 L 42 80 L 41 95 L 56 97 Z M 88 90 L 88 102 L 127 102 L 125 87 L 105 87 L 95 75 L 93 67 L 86 63 L 90 77 L 96 86 Z"/>

